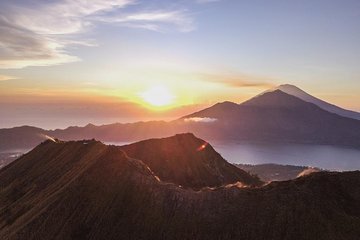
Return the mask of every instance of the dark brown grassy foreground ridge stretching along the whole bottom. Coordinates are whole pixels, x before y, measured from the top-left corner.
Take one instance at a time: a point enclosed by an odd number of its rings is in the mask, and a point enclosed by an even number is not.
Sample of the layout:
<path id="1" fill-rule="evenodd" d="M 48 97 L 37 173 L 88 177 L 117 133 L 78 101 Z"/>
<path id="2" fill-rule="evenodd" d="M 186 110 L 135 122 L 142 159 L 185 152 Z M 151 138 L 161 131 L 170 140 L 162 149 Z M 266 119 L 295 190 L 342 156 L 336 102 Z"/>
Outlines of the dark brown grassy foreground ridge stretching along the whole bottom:
<path id="1" fill-rule="evenodd" d="M 1 169 L 0 183 L 0 239 L 360 236 L 360 172 L 195 191 L 159 181 L 119 147 L 47 140 Z"/>

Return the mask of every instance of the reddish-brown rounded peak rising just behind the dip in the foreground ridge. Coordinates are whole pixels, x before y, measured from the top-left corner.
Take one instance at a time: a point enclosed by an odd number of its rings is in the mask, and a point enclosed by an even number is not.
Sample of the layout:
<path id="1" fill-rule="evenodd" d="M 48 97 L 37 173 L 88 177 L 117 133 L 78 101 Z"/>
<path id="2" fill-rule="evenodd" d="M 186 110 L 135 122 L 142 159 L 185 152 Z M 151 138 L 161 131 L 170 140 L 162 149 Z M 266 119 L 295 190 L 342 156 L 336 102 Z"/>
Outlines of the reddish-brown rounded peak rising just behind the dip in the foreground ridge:
<path id="1" fill-rule="evenodd" d="M 121 147 L 128 156 L 141 159 L 163 181 L 184 187 L 216 187 L 242 182 L 261 182 L 224 160 L 213 147 L 193 134 L 150 139 Z"/>

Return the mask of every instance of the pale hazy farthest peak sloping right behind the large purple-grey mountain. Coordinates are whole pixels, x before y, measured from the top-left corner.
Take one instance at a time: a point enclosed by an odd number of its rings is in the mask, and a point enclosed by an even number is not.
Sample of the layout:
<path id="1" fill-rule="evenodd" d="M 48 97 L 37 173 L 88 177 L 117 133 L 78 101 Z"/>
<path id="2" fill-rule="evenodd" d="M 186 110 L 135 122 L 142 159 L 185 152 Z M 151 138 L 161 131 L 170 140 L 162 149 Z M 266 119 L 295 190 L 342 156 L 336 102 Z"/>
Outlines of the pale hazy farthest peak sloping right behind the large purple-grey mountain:
<path id="1" fill-rule="evenodd" d="M 360 120 L 360 113 L 346 110 L 346 109 L 338 107 L 334 104 L 325 102 L 319 98 L 316 98 L 316 97 L 308 94 L 307 92 L 301 90 L 300 88 L 298 88 L 294 85 L 284 84 L 284 85 L 278 86 L 276 89 L 281 90 L 287 94 L 293 95 L 295 97 L 298 97 L 306 102 L 314 103 L 318 107 L 320 107 L 328 112 L 336 113 L 343 117 L 354 118 L 354 119 Z"/>

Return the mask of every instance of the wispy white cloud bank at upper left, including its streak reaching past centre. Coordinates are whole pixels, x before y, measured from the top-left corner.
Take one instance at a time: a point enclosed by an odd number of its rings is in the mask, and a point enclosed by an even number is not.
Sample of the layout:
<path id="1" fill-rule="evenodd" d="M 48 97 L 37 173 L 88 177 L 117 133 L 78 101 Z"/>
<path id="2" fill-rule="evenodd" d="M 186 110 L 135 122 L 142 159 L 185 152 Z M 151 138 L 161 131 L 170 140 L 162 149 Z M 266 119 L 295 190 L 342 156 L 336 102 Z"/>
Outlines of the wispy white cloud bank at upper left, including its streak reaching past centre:
<path id="1" fill-rule="evenodd" d="M 139 5 L 137 10 L 129 8 Z M 0 8 L 0 68 L 49 66 L 79 61 L 70 45 L 96 46 L 83 33 L 100 22 L 151 31 L 194 30 L 185 10 L 141 11 L 136 0 L 9 1 Z M 175 26 L 175 28 L 174 28 Z"/>

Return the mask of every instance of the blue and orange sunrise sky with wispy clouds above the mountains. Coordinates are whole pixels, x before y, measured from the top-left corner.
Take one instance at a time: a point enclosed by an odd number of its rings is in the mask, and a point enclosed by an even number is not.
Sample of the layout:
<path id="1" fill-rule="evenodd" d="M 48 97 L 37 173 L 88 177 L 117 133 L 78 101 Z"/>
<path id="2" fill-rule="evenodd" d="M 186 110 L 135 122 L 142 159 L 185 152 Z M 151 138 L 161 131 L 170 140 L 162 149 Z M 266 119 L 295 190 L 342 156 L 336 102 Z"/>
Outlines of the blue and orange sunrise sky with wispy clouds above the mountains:
<path id="1" fill-rule="evenodd" d="M 0 0 L 0 127 L 174 119 L 279 84 L 360 111 L 357 0 Z"/>

